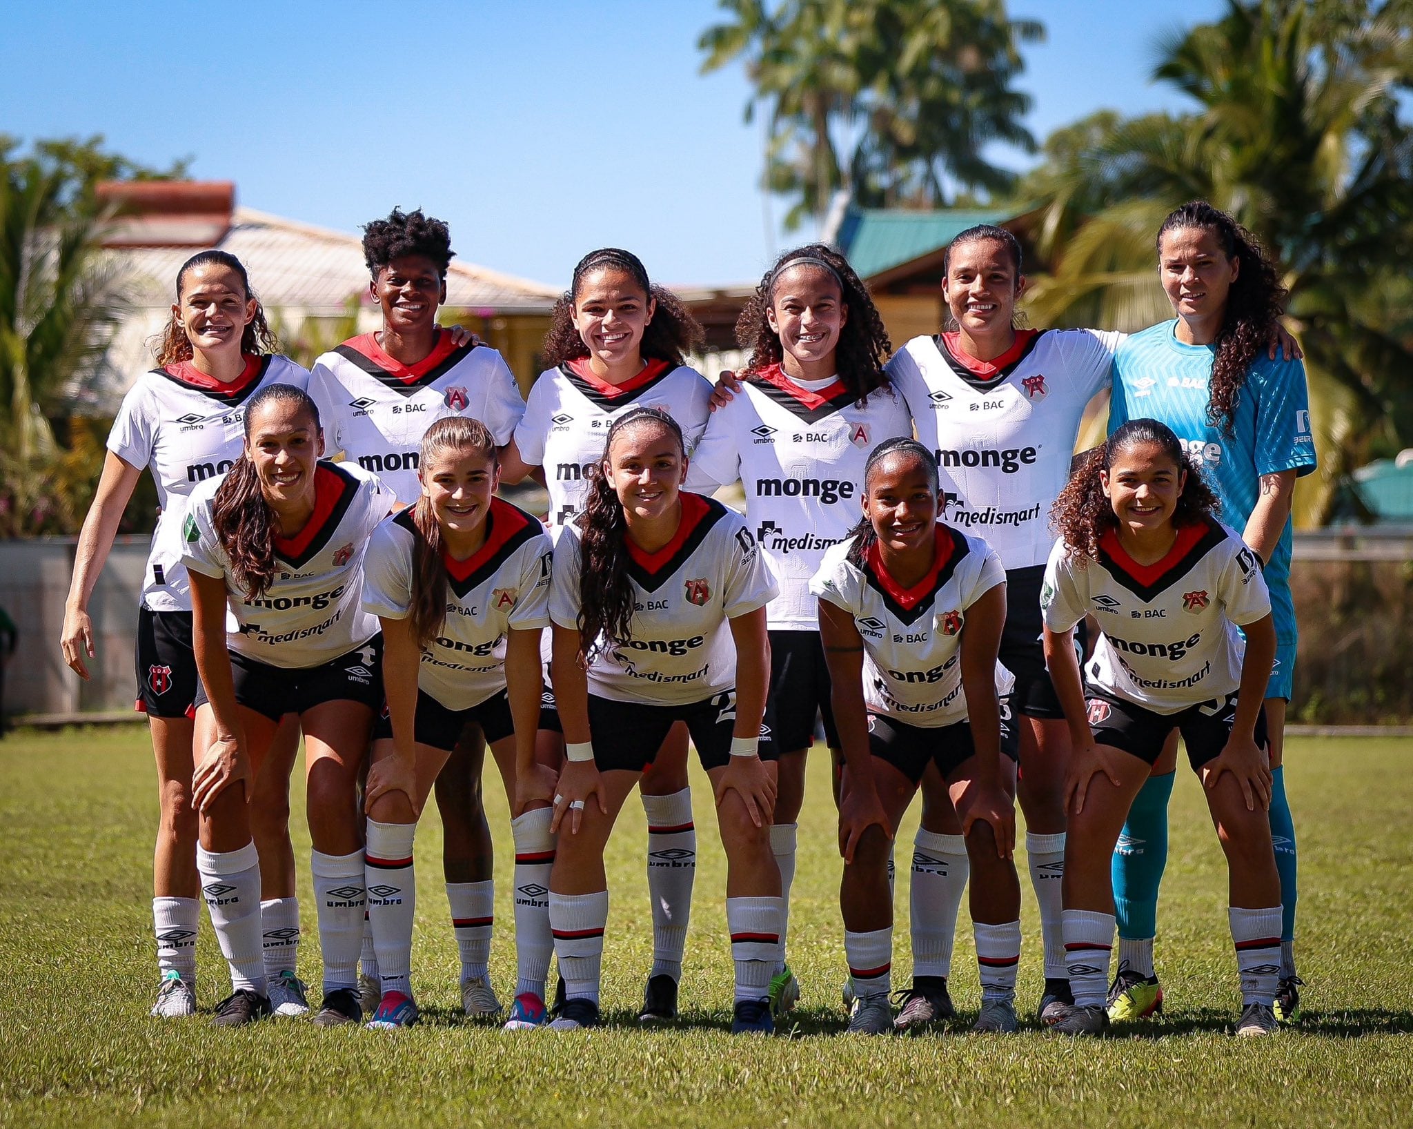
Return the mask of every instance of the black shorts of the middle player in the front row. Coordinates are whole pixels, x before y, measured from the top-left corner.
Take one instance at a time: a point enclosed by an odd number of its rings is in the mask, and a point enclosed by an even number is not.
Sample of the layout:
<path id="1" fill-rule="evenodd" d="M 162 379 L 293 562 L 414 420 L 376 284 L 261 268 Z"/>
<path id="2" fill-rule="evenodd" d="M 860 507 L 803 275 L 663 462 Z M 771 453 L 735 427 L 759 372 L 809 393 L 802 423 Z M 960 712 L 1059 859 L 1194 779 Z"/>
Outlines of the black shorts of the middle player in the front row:
<path id="1" fill-rule="evenodd" d="M 721 769 L 731 760 L 731 735 L 736 728 L 736 691 L 715 694 L 702 702 L 649 705 L 589 695 L 589 732 L 595 735 L 593 763 L 599 772 L 627 769 L 640 773 L 657 756 L 673 722 L 687 722 L 704 769 Z M 762 726 L 763 729 L 764 726 Z M 762 733 L 760 759 L 779 755 L 773 739 Z"/>

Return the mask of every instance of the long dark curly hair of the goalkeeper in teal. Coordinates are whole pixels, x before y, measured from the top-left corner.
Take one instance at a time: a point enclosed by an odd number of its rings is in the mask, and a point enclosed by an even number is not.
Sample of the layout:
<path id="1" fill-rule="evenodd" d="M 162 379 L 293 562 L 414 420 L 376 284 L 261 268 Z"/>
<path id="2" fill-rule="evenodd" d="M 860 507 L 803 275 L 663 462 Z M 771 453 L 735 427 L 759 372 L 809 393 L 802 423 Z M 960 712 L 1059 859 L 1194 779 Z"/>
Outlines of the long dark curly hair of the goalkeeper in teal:
<path id="1" fill-rule="evenodd" d="M 1217 333 L 1217 356 L 1208 379 L 1207 421 L 1231 437 L 1236 425 L 1236 401 L 1252 362 L 1266 350 L 1280 325 L 1289 291 L 1280 283 L 1276 264 L 1270 261 L 1260 240 L 1235 219 L 1207 201 L 1191 201 L 1163 220 L 1157 230 L 1157 247 L 1163 236 L 1184 227 L 1211 232 L 1228 259 L 1241 267 L 1236 281 L 1226 294 L 1222 328 Z"/>

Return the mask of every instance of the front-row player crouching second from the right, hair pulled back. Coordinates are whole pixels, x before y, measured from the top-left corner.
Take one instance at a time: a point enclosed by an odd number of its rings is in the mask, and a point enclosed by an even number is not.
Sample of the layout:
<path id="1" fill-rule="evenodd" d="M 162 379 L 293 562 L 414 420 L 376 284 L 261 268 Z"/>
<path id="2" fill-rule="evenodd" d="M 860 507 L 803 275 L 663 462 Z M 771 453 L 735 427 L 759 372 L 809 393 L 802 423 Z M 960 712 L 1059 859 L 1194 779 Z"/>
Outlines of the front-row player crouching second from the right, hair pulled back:
<path id="1" fill-rule="evenodd" d="M 851 1032 L 894 1030 L 889 993 L 893 899 L 889 841 L 937 766 L 962 817 L 981 965 L 978 1032 L 1017 1029 L 1020 882 L 1015 753 L 1002 757 L 996 653 L 1006 578 L 979 537 L 938 520 L 937 462 L 914 439 L 875 448 L 863 520 L 810 584 L 832 675 L 846 769 L 839 801 L 844 947 L 856 1003 Z M 955 916 L 955 909 L 954 909 Z M 945 991 L 918 983 L 913 991 Z M 906 1022 L 899 1030 L 918 1030 Z"/>

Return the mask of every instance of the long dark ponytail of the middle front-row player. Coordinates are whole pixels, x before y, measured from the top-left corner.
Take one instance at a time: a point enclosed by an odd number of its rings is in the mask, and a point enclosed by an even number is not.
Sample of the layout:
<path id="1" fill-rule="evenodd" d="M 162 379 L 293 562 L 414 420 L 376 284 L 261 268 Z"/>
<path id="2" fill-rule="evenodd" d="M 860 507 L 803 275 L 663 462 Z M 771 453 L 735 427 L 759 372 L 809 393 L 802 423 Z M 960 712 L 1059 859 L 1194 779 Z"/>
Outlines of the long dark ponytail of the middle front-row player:
<path id="1" fill-rule="evenodd" d="M 666 411 L 633 408 L 613 421 L 603 441 L 603 456 L 589 469 L 589 493 L 579 516 L 584 530 L 579 548 L 579 653 L 593 660 L 599 639 L 609 644 L 630 639 L 633 581 L 629 577 L 627 517 L 617 493 L 603 473 L 613 441 L 630 427 L 657 427 L 671 432 L 687 455 L 682 428 Z"/>

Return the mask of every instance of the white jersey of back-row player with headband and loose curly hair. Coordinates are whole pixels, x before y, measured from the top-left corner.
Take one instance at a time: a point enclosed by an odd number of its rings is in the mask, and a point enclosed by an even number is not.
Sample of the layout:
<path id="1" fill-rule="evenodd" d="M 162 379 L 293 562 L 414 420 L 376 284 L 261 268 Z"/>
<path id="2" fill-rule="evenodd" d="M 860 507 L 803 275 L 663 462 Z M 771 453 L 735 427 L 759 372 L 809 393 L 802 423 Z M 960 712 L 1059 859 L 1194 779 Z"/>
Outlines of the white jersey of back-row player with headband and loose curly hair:
<path id="1" fill-rule="evenodd" d="M 859 404 L 838 380 L 810 391 L 779 366 L 746 373 L 742 390 L 712 415 L 687 486 L 708 490 L 740 479 L 746 517 L 780 584 L 766 612 L 773 630 L 820 629 L 810 578 L 863 516 L 869 454 L 911 434 L 901 396 L 879 389 Z"/>

